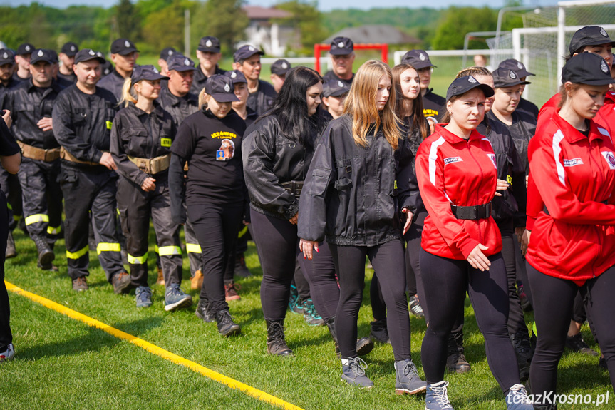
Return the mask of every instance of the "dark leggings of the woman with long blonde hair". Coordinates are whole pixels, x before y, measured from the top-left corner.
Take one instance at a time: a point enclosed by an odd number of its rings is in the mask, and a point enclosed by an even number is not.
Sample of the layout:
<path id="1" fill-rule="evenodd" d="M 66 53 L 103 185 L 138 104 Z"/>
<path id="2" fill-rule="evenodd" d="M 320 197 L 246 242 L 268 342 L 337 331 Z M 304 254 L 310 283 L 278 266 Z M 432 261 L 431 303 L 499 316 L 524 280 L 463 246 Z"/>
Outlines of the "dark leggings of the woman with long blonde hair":
<path id="1" fill-rule="evenodd" d="M 405 297 L 405 269 L 401 240 L 373 247 L 329 244 L 338 272 L 340 297 L 336 332 L 342 357 L 357 357 L 358 311 L 365 287 L 365 258 L 369 258 L 387 307 L 386 323 L 396 362 L 410 359 L 410 317 Z"/>

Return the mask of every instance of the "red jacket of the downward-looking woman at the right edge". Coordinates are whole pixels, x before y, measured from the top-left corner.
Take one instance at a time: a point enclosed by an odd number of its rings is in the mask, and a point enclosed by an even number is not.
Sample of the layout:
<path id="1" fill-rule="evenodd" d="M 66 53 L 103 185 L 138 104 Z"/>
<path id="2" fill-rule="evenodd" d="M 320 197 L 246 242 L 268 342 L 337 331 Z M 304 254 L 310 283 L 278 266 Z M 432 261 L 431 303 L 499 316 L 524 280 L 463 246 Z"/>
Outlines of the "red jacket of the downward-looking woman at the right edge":
<path id="1" fill-rule="evenodd" d="M 538 213 L 527 261 L 544 274 L 582 285 L 615 265 L 615 148 L 609 131 L 590 121 L 589 137 L 557 112 L 529 141 L 535 190 L 528 208 Z M 608 204 L 603 203 L 608 200 Z"/>

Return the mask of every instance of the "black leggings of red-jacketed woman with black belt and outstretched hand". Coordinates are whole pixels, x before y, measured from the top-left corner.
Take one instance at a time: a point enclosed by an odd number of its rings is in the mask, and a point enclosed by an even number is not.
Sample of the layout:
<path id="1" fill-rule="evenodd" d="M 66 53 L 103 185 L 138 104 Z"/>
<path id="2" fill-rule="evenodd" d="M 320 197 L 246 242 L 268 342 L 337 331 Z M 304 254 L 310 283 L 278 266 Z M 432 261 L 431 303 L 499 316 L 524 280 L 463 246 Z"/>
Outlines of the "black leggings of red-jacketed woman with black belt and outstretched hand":
<path id="1" fill-rule="evenodd" d="M 470 294 L 476 322 L 485 337 L 487 362 L 505 393 L 519 381 L 515 349 L 508 337 L 506 268 L 499 253 L 489 257 L 490 270 L 481 272 L 466 260 L 453 260 L 420 251 L 420 270 L 430 319 L 421 357 L 428 383 L 444 379 L 448 335 L 458 317 L 465 292 Z"/>

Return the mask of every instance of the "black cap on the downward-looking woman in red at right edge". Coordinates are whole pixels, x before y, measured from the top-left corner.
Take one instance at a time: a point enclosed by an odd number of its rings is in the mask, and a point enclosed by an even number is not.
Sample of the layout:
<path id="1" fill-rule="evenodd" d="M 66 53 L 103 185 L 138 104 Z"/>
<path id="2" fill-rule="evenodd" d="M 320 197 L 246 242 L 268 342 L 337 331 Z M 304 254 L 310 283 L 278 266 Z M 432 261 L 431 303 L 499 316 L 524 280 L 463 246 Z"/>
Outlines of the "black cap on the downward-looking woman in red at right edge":
<path id="1" fill-rule="evenodd" d="M 567 81 L 590 86 L 615 83 L 604 58 L 594 53 L 579 53 L 568 60 L 562 68 L 562 84 Z"/>

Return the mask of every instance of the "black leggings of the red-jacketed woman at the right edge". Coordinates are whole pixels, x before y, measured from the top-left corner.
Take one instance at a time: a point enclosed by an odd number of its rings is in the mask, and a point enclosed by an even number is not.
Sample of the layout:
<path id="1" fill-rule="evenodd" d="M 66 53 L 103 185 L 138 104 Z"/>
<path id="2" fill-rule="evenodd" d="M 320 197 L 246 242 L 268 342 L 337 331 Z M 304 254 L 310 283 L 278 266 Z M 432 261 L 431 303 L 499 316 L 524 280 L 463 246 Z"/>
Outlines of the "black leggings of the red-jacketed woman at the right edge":
<path id="1" fill-rule="evenodd" d="M 538 330 L 536 351 L 529 370 L 532 394 L 555 391 L 557 364 L 564 352 L 574 298 L 580 291 L 600 340 L 615 388 L 615 267 L 588 280 L 581 287 L 572 280 L 544 275 L 527 263 L 527 276 L 534 291 L 534 320 Z"/>

